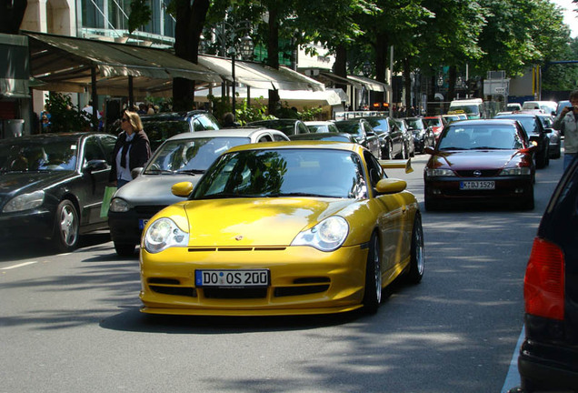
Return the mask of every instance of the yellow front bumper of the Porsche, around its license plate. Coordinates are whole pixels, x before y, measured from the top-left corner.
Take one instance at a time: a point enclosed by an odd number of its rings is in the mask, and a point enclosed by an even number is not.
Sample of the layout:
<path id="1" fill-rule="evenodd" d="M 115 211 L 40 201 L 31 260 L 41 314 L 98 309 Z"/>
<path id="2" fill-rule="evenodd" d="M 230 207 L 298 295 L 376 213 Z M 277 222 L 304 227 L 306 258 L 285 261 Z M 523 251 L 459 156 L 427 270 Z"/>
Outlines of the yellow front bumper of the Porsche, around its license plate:
<path id="1" fill-rule="evenodd" d="M 247 249 L 141 247 L 142 311 L 151 314 L 264 316 L 328 314 L 362 307 L 367 247 L 324 253 L 313 247 Z M 195 269 L 270 272 L 263 288 L 195 287 Z"/>

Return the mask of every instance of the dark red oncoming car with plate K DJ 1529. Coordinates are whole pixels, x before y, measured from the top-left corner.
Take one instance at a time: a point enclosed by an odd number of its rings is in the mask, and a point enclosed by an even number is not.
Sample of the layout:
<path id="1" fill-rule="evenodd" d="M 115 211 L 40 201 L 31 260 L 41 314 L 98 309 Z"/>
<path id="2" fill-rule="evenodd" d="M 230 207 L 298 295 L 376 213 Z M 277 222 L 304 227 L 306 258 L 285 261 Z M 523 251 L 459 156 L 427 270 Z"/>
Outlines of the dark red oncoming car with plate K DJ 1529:
<path id="1" fill-rule="evenodd" d="M 424 169 L 425 208 L 497 200 L 533 209 L 531 145 L 515 120 L 463 120 L 447 126 Z"/>

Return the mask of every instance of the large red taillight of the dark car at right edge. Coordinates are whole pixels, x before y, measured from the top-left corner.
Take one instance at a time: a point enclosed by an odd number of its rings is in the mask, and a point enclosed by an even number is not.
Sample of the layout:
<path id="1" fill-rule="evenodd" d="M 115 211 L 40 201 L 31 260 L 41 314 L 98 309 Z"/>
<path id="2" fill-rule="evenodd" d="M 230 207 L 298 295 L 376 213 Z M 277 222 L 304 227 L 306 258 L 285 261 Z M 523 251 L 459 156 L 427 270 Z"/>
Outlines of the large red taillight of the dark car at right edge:
<path id="1" fill-rule="evenodd" d="M 536 237 L 523 279 L 526 313 L 564 318 L 564 256 L 560 247 Z"/>

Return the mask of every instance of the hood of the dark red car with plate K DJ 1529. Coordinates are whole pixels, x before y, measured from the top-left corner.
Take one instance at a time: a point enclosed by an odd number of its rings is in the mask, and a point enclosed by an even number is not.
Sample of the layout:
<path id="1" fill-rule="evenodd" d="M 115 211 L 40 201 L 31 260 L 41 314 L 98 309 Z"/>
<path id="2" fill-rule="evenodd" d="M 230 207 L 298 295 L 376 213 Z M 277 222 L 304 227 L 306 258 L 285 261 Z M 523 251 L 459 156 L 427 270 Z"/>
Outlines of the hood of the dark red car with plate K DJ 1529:
<path id="1" fill-rule="evenodd" d="M 432 156 L 429 167 L 453 170 L 503 168 L 513 160 L 521 159 L 517 150 L 457 150 L 443 151 Z"/>

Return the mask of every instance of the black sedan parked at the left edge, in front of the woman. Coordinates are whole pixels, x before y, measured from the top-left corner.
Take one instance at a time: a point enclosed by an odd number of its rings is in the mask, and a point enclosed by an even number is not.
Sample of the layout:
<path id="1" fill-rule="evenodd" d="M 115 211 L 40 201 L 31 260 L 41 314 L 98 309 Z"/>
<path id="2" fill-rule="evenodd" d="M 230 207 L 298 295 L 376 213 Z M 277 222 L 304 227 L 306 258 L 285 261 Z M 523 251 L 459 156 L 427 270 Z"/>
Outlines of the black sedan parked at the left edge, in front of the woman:
<path id="1" fill-rule="evenodd" d="M 51 239 L 74 249 L 106 229 L 100 217 L 116 137 L 69 133 L 0 140 L 0 236 Z"/>

